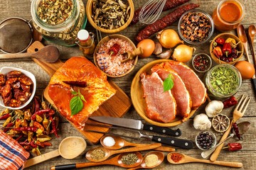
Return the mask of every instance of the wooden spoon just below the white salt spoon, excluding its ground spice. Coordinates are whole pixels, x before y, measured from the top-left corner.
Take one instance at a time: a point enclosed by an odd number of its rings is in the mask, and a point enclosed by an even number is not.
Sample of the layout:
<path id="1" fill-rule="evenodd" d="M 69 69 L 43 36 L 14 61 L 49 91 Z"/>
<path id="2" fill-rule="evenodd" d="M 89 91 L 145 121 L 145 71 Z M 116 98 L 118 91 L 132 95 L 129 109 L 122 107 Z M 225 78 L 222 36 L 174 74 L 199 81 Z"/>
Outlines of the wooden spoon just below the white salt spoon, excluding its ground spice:
<path id="1" fill-rule="evenodd" d="M 120 153 L 125 153 L 125 152 L 137 152 L 137 151 L 142 151 L 142 150 L 149 150 L 149 149 L 154 149 L 154 148 L 160 147 L 160 146 L 161 146 L 161 144 L 154 143 L 154 144 L 149 144 L 149 145 L 143 145 L 143 146 L 140 146 L 140 147 L 131 147 L 131 148 L 121 149 L 121 150 L 111 150 L 111 149 L 107 149 L 105 147 L 96 147 L 96 148 L 90 149 L 86 153 L 85 157 L 89 161 L 91 161 L 91 162 L 102 162 L 102 161 L 105 161 L 110 156 L 112 156 L 113 154 L 120 154 Z M 97 150 L 100 149 L 103 152 L 105 152 L 105 156 L 102 159 L 93 159 L 92 158 L 92 152 L 95 149 L 97 149 Z"/>

